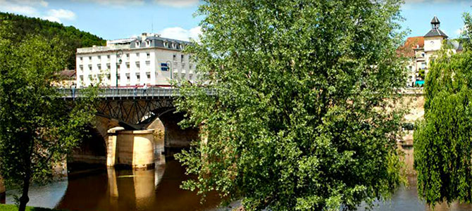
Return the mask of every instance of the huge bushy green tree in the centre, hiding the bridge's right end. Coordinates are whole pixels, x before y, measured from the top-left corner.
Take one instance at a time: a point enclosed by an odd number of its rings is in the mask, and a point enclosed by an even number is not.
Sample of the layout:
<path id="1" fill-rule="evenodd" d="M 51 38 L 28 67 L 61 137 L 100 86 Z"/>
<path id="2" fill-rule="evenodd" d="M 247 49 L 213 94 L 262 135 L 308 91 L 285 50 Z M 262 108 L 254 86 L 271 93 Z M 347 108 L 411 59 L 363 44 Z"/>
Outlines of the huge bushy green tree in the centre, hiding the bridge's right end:
<path id="1" fill-rule="evenodd" d="M 246 210 L 356 210 L 389 196 L 404 181 L 400 6 L 204 1 L 203 34 L 187 46 L 203 82 L 177 101 L 182 125 L 200 129 L 176 155 L 197 175 L 182 187 Z"/>

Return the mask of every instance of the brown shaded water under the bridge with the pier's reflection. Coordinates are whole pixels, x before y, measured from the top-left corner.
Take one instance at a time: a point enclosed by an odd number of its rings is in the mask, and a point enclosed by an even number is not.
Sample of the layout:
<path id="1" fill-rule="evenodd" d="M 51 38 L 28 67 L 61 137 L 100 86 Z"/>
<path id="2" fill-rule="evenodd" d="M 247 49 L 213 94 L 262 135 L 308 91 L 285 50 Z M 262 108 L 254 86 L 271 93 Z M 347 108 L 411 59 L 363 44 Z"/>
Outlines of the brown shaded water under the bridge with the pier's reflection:
<path id="1" fill-rule="evenodd" d="M 187 179 L 176 160 L 155 170 L 114 170 L 69 179 L 56 208 L 65 210 L 208 210 L 219 200 L 209 196 L 201 205 L 194 192 L 179 188 Z M 156 186 L 157 184 L 157 186 Z"/>

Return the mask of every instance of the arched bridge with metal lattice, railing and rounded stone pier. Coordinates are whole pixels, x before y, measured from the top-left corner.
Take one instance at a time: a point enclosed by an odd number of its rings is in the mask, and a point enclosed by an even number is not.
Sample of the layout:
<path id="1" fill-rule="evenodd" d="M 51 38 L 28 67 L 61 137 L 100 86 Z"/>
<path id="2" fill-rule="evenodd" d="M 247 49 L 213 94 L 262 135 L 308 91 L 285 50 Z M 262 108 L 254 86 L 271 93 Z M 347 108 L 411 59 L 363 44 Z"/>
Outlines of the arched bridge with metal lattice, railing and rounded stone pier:
<path id="1" fill-rule="evenodd" d="M 182 129 L 173 100 L 179 89 L 99 90 L 96 123 L 89 128 L 68 162 L 92 165 L 131 165 L 149 167 L 164 148 L 185 148 L 198 138 L 198 129 Z M 59 89 L 65 101 L 75 101 L 85 93 L 82 89 Z M 209 91 L 209 94 L 212 94 Z"/>

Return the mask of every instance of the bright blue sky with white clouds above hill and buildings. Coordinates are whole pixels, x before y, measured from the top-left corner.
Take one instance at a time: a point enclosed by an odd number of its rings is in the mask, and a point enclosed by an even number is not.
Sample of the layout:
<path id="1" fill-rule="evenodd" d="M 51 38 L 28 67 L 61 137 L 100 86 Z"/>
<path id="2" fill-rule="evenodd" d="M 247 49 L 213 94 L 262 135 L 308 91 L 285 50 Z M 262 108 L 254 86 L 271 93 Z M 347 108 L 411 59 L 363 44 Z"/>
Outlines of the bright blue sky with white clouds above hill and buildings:
<path id="1" fill-rule="evenodd" d="M 423 36 L 435 15 L 440 29 L 457 38 L 464 28 L 462 13 L 472 12 L 471 0 L 405 0 L 402 22 L 409 37 Z M 104 39 L 154 32 L 188 40 L 200 33 L 202 17 L 194 16 L 199 0 L 0 0 L 0 11 L 73 25 Z"/>

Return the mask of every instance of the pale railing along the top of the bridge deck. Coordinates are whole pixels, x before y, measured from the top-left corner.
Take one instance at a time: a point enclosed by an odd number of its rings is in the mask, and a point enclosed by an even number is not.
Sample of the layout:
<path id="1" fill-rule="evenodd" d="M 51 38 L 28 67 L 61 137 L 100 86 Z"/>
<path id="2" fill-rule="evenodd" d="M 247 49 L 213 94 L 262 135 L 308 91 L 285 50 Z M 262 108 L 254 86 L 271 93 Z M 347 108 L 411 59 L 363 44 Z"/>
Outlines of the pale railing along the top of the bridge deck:
<path id="1" fill-rule="evenodd" d="M 61 88 L 58 92 L 63 98 L 80 98 L 85 96 L 83 89 Z M 207 94 L 215 95 L 213 89 L 207 89 Z M 178 88 L 100 88 L 99 98 L 154 98 L 180 96 Z"/>

